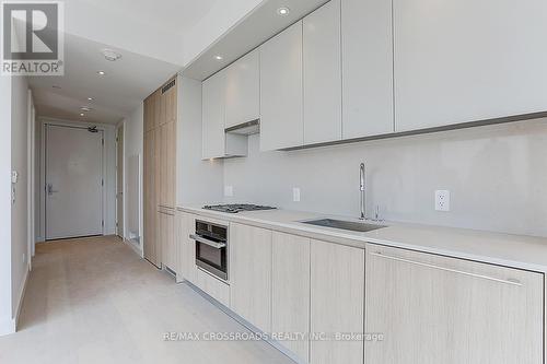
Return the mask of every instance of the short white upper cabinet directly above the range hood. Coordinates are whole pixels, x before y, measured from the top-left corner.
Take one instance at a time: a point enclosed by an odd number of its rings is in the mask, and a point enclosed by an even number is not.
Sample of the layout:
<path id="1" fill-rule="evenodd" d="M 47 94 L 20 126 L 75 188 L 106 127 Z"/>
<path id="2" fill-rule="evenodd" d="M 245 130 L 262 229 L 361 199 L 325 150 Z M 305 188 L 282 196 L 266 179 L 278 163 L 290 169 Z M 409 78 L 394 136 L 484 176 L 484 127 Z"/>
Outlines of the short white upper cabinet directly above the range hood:
<path id="1" fill-rule="evenodd" d="M 226 128 L 260 117 L 259 64 L 258 50 L 253 50 L 226 69 Z"/>

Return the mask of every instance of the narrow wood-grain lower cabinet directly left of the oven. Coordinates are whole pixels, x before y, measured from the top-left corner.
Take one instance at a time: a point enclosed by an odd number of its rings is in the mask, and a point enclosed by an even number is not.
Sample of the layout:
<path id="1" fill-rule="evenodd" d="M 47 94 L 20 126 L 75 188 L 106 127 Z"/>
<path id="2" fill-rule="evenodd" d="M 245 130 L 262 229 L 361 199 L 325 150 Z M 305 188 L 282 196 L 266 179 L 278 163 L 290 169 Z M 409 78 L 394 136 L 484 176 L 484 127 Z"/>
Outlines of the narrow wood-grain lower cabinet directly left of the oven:
<path id="1" fill-rule="evenodd" d="M 189 236 L 196 231 L 196 218 L 193 214 L 176 213 L 176 234 L 175 240 L 178 246 L 177 281 L 187 280 L 196 284 L 196 242 Z"/>

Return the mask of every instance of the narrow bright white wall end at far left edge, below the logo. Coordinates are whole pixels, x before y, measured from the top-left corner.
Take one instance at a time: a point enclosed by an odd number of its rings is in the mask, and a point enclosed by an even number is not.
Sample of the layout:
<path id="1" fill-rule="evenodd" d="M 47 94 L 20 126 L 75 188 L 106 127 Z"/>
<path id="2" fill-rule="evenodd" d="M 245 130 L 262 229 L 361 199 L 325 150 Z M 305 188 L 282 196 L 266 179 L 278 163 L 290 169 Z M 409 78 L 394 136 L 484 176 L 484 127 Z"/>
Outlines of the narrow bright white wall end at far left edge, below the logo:
<path id="1" fill-rule="evenodd" d="M 0 336 L 14 331 L 11 284 L 11 78 L 0 77 Z"/>

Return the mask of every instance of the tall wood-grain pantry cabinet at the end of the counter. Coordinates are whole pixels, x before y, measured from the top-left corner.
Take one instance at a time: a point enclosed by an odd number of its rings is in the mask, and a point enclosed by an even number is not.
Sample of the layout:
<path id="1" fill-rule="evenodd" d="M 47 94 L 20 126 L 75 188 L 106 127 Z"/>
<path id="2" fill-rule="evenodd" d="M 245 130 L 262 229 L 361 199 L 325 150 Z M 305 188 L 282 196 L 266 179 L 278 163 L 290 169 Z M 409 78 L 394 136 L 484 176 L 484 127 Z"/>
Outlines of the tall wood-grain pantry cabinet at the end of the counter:
<path id="1" fill-rule="evenodd" d="M 177 79 L 144 99 L 144 258 L 176 272 L 175 181 Z"/>

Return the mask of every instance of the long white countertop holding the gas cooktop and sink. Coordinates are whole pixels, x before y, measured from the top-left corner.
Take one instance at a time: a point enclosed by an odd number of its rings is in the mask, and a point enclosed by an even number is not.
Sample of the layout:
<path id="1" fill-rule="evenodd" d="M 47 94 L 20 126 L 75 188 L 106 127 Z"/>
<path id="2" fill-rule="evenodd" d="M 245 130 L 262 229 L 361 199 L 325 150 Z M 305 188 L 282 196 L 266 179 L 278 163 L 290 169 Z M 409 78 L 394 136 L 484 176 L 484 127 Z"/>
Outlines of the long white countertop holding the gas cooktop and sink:
<path id="1" fill-rule="evenodd" d="M 195 206 L 179 207 L 178 210 L 205 218 L 265 227 L 359 248 L 364 248 L 366 243 L 373 243 L 547 272 L 547 238 L 543 237 L 396 222 L 382 222 L 381 224 L 387 227 L 360 233 L 303 224 L 301 221 L 325 218 L 358 221 L 313 212 L 279 209 L 232 214 L 203 210 Z"/>

